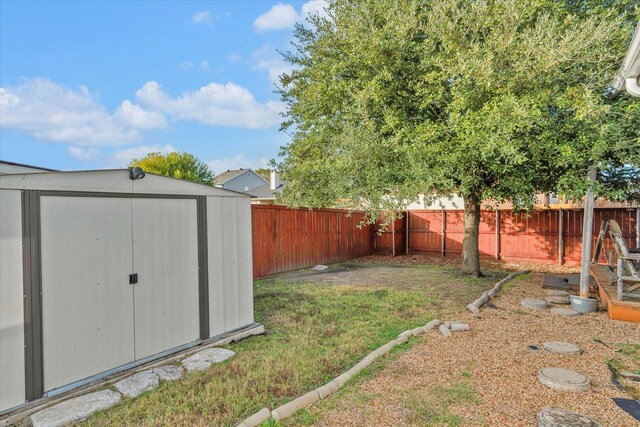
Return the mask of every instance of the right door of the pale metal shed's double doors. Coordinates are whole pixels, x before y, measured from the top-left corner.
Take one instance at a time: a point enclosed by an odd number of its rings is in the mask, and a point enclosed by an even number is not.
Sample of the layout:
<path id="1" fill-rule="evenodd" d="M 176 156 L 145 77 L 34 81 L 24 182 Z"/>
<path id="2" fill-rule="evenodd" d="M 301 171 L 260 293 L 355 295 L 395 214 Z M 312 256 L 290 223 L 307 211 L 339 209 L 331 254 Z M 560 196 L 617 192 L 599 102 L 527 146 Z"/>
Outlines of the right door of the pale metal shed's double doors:
<path id="1" fill-rule="evenodd" d="M 199 339 L 195 199 L 133 199 L 136 359 Z"/>

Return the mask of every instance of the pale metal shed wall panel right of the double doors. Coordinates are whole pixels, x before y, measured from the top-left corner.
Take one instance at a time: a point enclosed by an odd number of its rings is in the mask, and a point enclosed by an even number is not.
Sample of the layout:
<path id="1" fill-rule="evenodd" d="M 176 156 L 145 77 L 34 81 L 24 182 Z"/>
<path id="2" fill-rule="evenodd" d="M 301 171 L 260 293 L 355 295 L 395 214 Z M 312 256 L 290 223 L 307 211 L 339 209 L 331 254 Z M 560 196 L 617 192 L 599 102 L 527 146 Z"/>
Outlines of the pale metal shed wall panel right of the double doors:
<path id="1" fill-rule="evenodd" d="M 248 198 L 207 197 L 209 334 L 253 323 L 251 204 Z"/>

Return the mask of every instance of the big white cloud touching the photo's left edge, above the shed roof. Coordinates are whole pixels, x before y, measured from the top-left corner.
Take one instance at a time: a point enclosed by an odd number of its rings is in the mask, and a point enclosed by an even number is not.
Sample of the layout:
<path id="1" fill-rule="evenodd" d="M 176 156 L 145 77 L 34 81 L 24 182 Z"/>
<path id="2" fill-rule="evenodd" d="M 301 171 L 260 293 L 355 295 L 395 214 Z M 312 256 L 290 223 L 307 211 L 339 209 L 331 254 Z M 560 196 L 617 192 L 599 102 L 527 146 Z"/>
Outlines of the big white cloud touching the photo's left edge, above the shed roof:
<path id="1" fill-rule="evenodd" d="M 0 88 L 0 113 L 0 127 L 39 140 L 120 145 L 139 136 L 109 114 L 86 87 L 73 90 L 42 78 Z"/>

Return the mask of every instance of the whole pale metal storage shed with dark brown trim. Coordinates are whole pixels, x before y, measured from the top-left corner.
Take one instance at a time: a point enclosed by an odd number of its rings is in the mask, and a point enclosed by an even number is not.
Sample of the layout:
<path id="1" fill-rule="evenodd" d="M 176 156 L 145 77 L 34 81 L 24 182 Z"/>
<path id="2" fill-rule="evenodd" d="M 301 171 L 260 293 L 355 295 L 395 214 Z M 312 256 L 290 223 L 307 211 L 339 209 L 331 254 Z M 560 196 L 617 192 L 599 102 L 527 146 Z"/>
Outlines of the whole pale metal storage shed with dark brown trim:
<path id="1" fill-rule="evenodd" d="M 0 413 L 253 323 L 250 197 L 134 175 L 0 176 Z"/>

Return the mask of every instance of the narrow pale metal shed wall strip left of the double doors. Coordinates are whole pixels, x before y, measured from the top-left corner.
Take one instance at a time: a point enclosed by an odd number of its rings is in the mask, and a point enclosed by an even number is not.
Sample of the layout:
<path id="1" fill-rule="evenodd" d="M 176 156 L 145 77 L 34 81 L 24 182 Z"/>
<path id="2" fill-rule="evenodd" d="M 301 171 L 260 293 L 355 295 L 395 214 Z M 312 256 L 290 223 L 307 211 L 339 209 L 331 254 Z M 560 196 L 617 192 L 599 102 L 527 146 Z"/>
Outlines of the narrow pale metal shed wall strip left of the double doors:
<path id="1" fill-rule="evenodd" d="M 0 410 L 25 401 L 21 204 L 0 190 Z"/>

